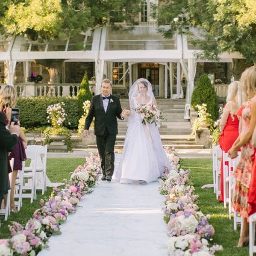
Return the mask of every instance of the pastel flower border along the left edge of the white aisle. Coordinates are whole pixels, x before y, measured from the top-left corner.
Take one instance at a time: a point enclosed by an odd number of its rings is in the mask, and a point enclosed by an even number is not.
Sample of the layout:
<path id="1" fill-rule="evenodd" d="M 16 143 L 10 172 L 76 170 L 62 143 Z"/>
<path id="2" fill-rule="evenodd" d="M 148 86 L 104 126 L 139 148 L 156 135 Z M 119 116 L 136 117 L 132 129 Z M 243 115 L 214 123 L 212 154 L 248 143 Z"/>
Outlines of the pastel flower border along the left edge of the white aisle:
<path id="1" fill-rule="evenodd" d="M 0 239 L 0 256 L 34 256 L 46 248 L 49 237 L 61 234 L 61 223 L 76 211 L 81 197 L 92 192 L 90 188 L 98 181 L 100 166 L 98 155 L 87 157 L 84 166 L 78 166 L 62 188 L 53 189 L 47 202 L 40 200 L 41 208 L 34 211 L 25 226 L 12 222 L 11 239 Z"/>

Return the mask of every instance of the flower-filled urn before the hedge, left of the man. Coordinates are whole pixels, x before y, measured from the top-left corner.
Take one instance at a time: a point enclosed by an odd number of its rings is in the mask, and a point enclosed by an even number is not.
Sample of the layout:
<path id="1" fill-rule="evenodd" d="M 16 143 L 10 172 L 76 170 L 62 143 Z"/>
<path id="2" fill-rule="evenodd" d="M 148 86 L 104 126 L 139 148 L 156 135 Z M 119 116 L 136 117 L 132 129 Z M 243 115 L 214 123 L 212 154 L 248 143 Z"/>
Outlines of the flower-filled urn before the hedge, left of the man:
<path id="1" fill-rule="evenodd" d="M 72 151 L 71 133 L 69 129 L 63 126 L 65 120 L 67 120 L 67 114 L 64 110 L 64 102 L 60 102 L 54 105 L 49 105 L 47 108 L 48 122 L 51 123 L 51 127 L 46 128 L 43 132 L 45 137 L 45 144 L 49 144 L 53 141 L 61 142 L 67 145 L 67 151 Z"/>

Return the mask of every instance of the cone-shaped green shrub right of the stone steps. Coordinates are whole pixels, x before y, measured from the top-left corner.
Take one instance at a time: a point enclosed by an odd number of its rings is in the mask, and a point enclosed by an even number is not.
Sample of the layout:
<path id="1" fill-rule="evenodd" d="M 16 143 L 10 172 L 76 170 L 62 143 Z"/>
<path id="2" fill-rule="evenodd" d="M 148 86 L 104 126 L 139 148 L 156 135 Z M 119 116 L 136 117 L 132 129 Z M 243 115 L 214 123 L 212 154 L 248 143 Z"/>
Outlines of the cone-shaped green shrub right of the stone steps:
<path id="1" fill-rule="evenodd" d="M 207 112 L 214 121 L 218 117 L 217 95 L 214 91 L 211 81 L 206 74 L 199 77 L 198 85 L 192 93 L 191 106 L 196 109 L 196 105 L 207 105 Z"/>

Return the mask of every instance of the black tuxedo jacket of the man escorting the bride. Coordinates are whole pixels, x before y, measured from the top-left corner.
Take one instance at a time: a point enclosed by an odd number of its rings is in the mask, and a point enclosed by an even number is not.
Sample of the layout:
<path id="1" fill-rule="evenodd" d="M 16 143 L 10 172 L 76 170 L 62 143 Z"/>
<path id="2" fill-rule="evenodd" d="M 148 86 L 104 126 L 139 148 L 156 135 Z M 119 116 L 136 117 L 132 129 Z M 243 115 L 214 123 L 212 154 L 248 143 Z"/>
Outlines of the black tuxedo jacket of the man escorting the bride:
<path id="1" fill-rule="evenodd" d="M 120 99 L 114 95 L 110 95 L 107 111 L 103 107 L 102 95 L 93 96 L 90 109 L 86 117 L 84 130 L 89 130 L 93 117 L 95 117 L 95 135 L 102 136 L 107 128 L 110 134 L 117 134 L 117 118 L 122 119 L 120 114 L 122 107 Z"/>

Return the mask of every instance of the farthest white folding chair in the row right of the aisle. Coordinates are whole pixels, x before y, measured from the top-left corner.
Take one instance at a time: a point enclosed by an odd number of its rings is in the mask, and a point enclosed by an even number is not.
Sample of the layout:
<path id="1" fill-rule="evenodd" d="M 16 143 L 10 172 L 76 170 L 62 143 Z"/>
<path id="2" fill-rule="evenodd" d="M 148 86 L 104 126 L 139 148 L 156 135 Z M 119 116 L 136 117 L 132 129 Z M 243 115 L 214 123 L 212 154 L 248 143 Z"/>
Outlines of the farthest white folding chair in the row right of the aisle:
<path id="1" fill-rule="evenodd" d="M 214 157 L 213 157 L 213 166 L 215 173 L 215 187 L 216 187 L 216 199 L 219 199 L 220 196 L 220 161 L 222 157 L 222 149 L 219 145 L 214 146 Z"/>

